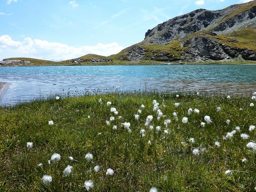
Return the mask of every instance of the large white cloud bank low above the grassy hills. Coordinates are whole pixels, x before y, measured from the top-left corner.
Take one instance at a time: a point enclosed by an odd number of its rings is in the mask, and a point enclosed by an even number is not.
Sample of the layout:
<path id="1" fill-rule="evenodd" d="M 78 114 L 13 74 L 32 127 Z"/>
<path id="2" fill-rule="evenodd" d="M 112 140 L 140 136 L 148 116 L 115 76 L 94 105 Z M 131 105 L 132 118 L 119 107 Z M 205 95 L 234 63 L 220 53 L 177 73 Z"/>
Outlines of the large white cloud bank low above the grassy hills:
<path id="1" fill-rule="evenodd" d="M 120 52 L 124 47 L 117 43 L 97 44 L 95 46 L 71 47 L 67 44 L 48 42 L 27 37 L 23 42 L 14 41 L 8 35 L 0 36 L 0 48 L 8 57 L 29 57 L 45 60 L 68 60 L 93 53 L 109 56 Z"/>

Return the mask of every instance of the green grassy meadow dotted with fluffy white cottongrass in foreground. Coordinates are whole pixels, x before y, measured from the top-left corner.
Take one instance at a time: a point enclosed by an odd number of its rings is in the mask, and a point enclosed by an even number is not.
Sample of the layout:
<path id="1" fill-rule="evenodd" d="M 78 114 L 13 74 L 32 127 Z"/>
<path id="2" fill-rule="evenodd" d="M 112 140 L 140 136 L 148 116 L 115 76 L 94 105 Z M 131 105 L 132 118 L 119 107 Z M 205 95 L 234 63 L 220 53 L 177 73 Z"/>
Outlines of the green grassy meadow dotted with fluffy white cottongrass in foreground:
<path id="1" fill-rule="evenodd" d="M 0 191 L 255 191 L 256 93 L 112 93 L 0 108 Z"/>

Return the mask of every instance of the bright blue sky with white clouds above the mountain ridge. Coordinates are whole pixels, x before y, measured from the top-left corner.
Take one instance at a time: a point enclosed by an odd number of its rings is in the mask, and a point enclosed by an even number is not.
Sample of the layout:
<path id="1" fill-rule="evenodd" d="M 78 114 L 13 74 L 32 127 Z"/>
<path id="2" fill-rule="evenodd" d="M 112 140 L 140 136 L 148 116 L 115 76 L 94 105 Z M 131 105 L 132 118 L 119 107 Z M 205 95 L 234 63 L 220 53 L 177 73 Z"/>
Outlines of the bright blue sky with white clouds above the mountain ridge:
<path id="1" fill-rule="evenodd" d="M 0 0 L 0 60 L 109 56 L 141 42 L 148 29 L 196 9 L 251 0 Z"/>

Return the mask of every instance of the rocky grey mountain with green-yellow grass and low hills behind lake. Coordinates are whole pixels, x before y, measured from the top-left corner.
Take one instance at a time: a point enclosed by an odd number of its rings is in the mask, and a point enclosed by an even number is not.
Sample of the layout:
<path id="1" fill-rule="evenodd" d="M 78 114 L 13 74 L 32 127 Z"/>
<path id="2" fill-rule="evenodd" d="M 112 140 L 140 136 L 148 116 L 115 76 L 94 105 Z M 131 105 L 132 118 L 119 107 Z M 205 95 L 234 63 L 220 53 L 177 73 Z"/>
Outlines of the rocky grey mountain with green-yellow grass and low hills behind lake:
<path id="1" fill-rule="evenodd" d="M 142 42 L 109 57 L 88 54 L 60 62 L 9 58 L 0 65 L 81 65 L 111 60 L 114 64 L 256 60 L 256 0 L 217 11 L 198 9 L 180 15 L 148 29 Z"/>

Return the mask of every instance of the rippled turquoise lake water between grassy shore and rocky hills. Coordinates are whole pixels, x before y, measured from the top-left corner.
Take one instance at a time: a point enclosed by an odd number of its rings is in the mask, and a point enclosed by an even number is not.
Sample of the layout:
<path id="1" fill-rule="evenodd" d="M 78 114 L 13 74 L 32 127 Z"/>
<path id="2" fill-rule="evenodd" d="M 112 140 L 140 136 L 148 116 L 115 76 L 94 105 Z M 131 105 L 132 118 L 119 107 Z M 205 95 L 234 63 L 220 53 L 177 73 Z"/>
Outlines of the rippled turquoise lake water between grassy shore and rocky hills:
<path id="1" fill-rule="evenodd" d="M 250 93 L 256 90 L 255 65 L 147 65 L 1 67 L 0 82 L 10 82 L 2 103 L 50 94 L 83 94 L 93 89 Z M 237 91 L 239 90 L 239 91 Z M 77 92 L 75 92 L 77 91 Z"/>

